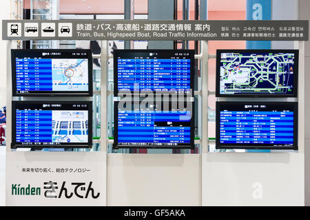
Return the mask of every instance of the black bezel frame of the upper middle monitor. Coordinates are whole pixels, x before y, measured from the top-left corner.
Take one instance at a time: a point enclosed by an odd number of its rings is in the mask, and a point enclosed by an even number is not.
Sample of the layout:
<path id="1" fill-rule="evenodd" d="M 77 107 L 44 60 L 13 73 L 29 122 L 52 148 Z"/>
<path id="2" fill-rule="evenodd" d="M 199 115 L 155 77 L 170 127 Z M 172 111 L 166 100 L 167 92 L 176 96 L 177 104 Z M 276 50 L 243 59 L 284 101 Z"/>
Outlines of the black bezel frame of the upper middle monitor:
<path id="1" fill-rule="evenodd" d="M 192 89 L 192 97 L 194 96 L 194 76 L 195 76 L 195 50 L 114 50 L 113 51 L 113 72 L 114 72 L 114 96 L 125 96 L 126 94 L 131 94 L 132 96 L 139 96 L 141 94 L 148 94 L 147 91 L 139 91 L 138 94 L 135 94 L 133 91 L 128 92 L 122 92 L 118 93 L 118 68 L 117 68 L 117 57 L 119 53 L 125 52 L 125 53 L 145 53 L 145 52 L 167 52 L 167 53 L 189 53 L 190 60 L 191 60 L 191 67 L 190 67 L 190 89 Z M 168 92 L 169 93 L 169 92 Z"/>

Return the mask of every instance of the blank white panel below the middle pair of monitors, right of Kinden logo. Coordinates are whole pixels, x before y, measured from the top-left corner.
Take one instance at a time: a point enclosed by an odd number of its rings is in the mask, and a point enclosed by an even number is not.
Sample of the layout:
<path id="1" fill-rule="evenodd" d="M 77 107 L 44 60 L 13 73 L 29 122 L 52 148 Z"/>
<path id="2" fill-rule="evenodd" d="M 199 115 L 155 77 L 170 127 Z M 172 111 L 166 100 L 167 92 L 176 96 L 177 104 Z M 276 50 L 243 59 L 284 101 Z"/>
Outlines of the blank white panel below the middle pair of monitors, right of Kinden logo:
<path id="1" fill-rule="evenodd" d="M 200 206 L 201 155 L 107 155 L 107 206 Z"/>

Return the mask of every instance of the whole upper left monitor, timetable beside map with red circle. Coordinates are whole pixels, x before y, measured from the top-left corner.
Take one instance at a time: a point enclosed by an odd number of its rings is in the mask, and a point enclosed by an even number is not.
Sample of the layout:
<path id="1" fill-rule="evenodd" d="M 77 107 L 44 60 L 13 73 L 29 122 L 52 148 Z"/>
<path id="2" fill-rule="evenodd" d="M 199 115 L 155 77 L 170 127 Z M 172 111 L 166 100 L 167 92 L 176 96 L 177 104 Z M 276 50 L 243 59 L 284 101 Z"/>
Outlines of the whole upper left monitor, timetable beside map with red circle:
<path id="1" fill-rule="evenodd" d="M 12 50 L 13 96 L 92 96 L 92 50 Z"/>

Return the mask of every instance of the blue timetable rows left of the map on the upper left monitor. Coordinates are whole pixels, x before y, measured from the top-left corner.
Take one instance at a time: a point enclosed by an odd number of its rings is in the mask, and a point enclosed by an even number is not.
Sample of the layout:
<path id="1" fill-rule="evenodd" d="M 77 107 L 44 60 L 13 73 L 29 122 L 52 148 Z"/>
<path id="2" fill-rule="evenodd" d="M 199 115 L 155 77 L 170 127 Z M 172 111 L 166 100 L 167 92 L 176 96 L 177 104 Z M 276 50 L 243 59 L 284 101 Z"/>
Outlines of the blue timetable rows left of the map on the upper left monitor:
<path id="1" fill-rule="evenodd" d="M 17 58 L 17 91 L 52 91 L 52 59 Z"/>

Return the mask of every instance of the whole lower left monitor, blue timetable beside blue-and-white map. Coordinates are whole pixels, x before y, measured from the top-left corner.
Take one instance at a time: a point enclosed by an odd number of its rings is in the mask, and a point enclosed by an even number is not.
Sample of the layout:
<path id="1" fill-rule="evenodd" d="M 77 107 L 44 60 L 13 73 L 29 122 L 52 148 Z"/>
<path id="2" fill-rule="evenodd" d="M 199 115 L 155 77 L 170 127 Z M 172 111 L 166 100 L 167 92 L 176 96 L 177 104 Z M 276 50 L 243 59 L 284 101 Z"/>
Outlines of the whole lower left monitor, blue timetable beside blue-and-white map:
<path id="1" fill-rule="evenodd" d="M 91 148 L 92 102 L 13 101 L 12 148 Z"/>

